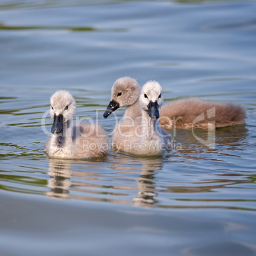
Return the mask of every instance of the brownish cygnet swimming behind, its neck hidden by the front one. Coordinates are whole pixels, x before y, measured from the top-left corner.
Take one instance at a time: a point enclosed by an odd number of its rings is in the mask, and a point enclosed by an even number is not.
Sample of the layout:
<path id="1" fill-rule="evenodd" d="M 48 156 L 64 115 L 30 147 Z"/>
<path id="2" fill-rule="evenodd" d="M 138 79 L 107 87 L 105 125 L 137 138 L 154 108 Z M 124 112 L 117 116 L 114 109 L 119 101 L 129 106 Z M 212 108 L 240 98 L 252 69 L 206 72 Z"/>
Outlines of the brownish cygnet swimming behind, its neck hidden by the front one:
<path id="1" fill-rule="evenodd" d="M 136 119 L 141 117 L 139 105 L 139 84 L 133 78 L 119 78 L 111 89 L 111 101 L 104 112 L 107 118 L 121 106 L 127 106 L 124 117 Z M 165 104 L 160 109 L 159 124 L 164 129 L 173 127 L 190 129 L 208 129 L 244 124 L 245 109 L 241 106 L 227 103 L 202 101 L 201 99 L 178 99 Z"/>

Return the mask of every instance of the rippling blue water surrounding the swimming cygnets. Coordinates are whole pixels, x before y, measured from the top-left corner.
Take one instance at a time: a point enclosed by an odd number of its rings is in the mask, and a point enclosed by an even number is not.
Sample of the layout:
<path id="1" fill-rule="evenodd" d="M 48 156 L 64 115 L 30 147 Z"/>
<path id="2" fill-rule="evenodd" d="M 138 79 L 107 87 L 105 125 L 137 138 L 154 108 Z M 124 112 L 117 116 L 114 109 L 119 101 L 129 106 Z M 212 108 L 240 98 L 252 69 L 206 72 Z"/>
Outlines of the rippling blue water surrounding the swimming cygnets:
<path id="1" fill-rule="evenodd" d="M 255 1 L 0 1 L 1 255 L 255 255 Z M 232 101 L 246 125 L 178 129 L 163 158 L 52 160 L 57 89 L 96 120 L 113 82 L 154 79 L 166 103 Z M 116 111 L 122 117 L 124 109 Z M 46 129 L 51 122 L 46 118 Z M 194 136 L 196 135 L 196 136 Z"/>

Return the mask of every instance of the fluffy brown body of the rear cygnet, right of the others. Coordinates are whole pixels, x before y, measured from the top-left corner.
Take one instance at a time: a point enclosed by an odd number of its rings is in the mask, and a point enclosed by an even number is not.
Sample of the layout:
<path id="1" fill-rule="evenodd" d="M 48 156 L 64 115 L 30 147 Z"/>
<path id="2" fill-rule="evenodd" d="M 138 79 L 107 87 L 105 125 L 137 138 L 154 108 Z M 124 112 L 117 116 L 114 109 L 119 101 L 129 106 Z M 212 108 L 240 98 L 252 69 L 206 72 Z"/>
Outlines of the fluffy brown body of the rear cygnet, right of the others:
<path id="1" fill-rule="evenodd" d="M 244 124 L 245 109 L 233 103 L 215 103 L 201 99 L 178 99 L 165 104 L 159 123 L 164 129 L 213 129 Z"/>

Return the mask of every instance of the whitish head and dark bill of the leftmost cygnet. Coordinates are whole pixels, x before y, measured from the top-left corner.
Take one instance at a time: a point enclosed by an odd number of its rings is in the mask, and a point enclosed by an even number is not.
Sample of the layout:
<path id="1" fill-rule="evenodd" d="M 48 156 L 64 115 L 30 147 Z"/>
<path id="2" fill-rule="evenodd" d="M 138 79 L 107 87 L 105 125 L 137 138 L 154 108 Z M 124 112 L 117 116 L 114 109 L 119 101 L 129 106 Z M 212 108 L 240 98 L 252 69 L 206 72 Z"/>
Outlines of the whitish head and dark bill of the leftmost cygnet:
<path id="1" fill-rule="evenodd" d="M 75 115 L 76 102 L 68 91 L 57 90 L 52 95 L 50 103 L 50 115 L 53 119 L 52 133 L 59 134 L 63 130 L 63 124 Z"/>

